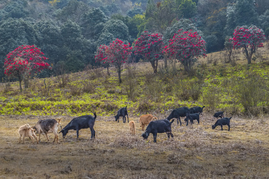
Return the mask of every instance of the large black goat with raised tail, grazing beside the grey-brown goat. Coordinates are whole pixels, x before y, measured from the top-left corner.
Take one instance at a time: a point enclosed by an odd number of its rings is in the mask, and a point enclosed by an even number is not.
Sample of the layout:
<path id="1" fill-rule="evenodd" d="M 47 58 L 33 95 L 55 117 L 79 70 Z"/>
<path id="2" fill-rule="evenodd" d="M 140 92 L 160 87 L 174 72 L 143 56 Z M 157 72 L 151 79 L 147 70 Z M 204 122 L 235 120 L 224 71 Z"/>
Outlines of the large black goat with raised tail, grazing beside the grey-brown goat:
<path id="1" fill-rule="evenodd" d="M 78 139 L 80 129 L 90 128 L 92 134 L 91 138 L 95 138 L 95 130 L 93 127 L 96 117 L 97 117 L 96 113 L 94 113 L 94 117 L 92 115 L 83 115 L 75 117 L 59 133 L 62 133 L 63 138 L 65 138 L 68 131 L 73 129 L 77 131 L 77 139 Z"/>

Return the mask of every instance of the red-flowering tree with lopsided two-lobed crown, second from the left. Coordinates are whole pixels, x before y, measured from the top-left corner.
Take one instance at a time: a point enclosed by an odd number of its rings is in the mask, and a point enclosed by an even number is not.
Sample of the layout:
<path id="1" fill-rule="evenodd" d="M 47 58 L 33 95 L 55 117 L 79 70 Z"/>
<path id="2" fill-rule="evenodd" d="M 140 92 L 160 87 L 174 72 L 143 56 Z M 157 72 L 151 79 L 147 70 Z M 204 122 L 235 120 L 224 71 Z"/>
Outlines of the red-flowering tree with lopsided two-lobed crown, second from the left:
<path id="1" fill-rule="evenodd" d="M 122 64 L 130 58 L 132 53 L 132 47 L 124 44 L 120 39 L 116 39 L 109 46 L 100 45 L 97 49 L 97 54 L 95 56 L 96 62 L 99 61 L 103 64 L 110 63 L 117 68 L 119 82 L 122 83 L 121 73 Z"/>

